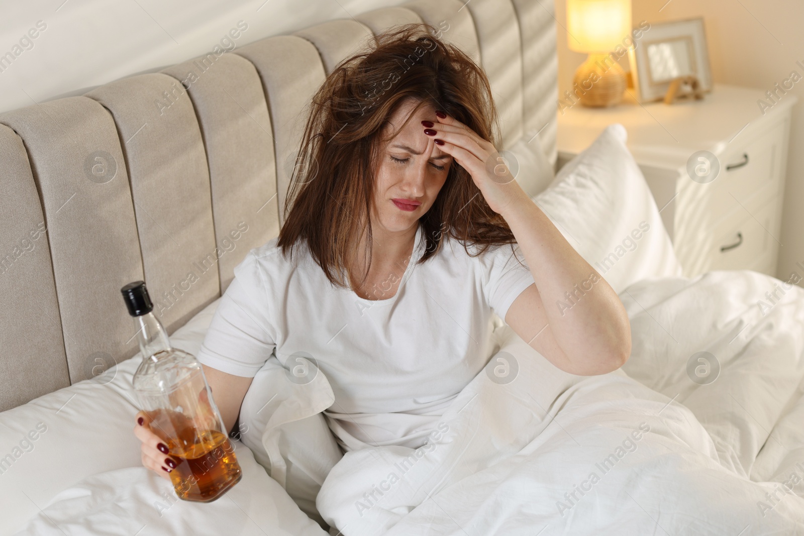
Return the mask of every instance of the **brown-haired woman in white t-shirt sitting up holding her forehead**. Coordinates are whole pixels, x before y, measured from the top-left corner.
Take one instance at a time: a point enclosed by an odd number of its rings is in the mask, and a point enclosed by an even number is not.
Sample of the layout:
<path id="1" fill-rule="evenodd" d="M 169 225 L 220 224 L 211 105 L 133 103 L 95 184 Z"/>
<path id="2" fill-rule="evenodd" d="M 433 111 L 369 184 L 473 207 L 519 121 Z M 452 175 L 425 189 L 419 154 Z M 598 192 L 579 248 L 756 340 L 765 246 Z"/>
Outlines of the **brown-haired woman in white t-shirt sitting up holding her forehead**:
<path id="1" fill-rule="evenodd" d="M 617 294 L 499 158 L 485 74 L 434 31 L 379 36 L 314 96 L 285 223 L 238 265 L 199 352 L 228 430 L 273 351 L 316 359 L 344 451 L 424 444 L 488 362 L 492 312 L 572 374 L 630 355 Z M 143 424 L 142 463 L 167 478 Z"/>

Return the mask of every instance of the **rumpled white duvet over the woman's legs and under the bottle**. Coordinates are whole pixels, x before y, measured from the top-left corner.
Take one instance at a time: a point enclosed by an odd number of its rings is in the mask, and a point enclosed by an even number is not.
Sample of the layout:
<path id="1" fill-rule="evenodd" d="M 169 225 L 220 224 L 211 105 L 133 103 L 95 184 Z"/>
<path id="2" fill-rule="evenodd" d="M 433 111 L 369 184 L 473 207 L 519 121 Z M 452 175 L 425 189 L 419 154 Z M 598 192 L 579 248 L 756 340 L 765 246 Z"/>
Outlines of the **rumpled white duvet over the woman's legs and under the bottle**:
<path id="1" fill-rule="evenodd" d="M 416 451 L 334 455 L 315 419 L 326 377 L 291 383 L 269 360 L 241 410 L 253 457 L 238 451 L 244 479 L 224 497 L 170 502 L 169 482 L 123 468 L 64 489 L 20 534 L 324 534 L 282 489 L 321 484 L 300 505 L 345 536 L 804 534 L 804 289 L 778 284 L 631 285 L 632 356 L 601 376 L 557 370 L 503 326 Z"/>

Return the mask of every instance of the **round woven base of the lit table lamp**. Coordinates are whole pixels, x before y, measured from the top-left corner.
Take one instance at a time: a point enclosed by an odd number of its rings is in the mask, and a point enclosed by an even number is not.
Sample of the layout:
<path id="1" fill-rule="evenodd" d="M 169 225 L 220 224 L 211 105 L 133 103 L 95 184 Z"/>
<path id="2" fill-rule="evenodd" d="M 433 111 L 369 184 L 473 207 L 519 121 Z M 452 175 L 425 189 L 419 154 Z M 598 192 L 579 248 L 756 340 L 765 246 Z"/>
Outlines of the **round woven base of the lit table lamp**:
<path id="1" fill-rule="evenodd" d="M 575 72 L 580 104 L 592 107 L 614 106 L 626 91 L 626 72 L 606 54 L 590 54 Z"/>

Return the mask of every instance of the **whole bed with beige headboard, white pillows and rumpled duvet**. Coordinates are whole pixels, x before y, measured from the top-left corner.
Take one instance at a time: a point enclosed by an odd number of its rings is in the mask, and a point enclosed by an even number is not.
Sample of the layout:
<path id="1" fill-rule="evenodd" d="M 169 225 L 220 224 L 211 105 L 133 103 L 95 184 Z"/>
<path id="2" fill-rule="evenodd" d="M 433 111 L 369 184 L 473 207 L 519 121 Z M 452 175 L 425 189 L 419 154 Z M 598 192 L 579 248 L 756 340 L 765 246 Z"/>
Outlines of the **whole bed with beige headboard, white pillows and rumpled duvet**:
<path id="1" fill-rule="evenodd" d="M 552 9 L 415 0 L 0 115 L 0 534 L 804 531 L 804 291 L 683 278 L 619 125 L 553 176 Z M 233 268 L 281 226 L 307 100 L 408 22 L 486 69 L 517 180 L 590 264 L 609 260 L 631 358 L 564 374 L 497 319 L 432 442 L 347 456 L 326 376 L 293 383 L 270 358 L 234 440 L 243 480 L 178 501 L 140 464 L 119 288 L 146 280 L 171 342 L 197 353 Z"/>

